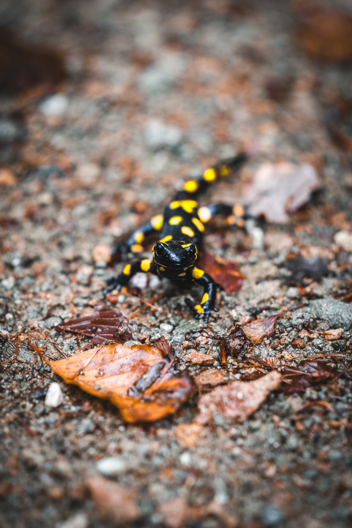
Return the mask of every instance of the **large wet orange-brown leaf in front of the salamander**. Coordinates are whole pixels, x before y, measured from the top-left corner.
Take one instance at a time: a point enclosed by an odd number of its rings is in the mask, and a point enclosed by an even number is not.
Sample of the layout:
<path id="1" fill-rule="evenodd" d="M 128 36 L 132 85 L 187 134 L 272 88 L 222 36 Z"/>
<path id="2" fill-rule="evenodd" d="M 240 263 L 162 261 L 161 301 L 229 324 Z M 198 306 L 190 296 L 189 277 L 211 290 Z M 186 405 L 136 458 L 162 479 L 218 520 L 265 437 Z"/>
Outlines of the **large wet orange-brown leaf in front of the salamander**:
<path id="1" fill-rule="evenodd" d="M 173 414 L 194 388 L 188 378 L 173 377 L 171 363 L 148 345 L 106 345 L 49 364 L 66 383 L 111 401 L 128 422 Z"/>

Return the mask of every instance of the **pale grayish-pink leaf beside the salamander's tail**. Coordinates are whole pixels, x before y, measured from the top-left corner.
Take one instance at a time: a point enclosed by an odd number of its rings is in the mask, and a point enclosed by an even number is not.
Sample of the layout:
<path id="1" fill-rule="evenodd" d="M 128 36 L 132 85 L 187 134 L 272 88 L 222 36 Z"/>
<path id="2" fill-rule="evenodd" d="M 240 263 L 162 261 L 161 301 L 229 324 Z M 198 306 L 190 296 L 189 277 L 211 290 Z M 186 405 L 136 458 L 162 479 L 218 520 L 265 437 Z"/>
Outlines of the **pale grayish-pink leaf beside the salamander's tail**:
<path id="1" fill-rule="evenodd" d="M 287 222 L 288 213 L 307 203 L 318 186 L 319 180 L 311 165 L 264 163 L 246 191 L 249 213 L 264 215 L 270 222 Z"/>

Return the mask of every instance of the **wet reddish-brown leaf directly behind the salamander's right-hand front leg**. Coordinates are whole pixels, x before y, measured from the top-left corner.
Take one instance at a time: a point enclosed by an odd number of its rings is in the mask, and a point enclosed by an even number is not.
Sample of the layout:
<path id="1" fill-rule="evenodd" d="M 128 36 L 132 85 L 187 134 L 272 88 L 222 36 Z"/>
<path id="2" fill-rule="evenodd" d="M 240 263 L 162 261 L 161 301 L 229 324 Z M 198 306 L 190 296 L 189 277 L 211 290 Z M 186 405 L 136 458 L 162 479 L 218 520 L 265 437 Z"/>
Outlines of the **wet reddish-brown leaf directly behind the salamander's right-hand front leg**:
<path id="1" fill-rule="evenodd" d="M 227 295 L 239 291 L 243 284 L 244 276 L 239 270 L 236 262 L 224 261 L 217 262 L 212 255 L 203 253 L 197 260 L 197 267 L 204 269 L 213 277 L 217 284 L 220 284 L 226 291 Z"/>

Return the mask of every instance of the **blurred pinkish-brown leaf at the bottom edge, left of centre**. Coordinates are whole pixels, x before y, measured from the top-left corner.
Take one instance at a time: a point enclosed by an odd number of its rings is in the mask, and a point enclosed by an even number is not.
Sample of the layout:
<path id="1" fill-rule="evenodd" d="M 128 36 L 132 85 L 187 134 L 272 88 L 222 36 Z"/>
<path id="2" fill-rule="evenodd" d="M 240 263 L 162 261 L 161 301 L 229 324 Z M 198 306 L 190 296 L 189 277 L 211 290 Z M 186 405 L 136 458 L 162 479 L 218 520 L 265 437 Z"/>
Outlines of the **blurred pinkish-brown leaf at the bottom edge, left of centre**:
<path id="1" fill-rule="evenodd" d="M 104 520 L 114 526 L 127 526 L 139 517 L 130 489 L 99 476 L 89 478 L 87 484 L 93 504 Z"/>

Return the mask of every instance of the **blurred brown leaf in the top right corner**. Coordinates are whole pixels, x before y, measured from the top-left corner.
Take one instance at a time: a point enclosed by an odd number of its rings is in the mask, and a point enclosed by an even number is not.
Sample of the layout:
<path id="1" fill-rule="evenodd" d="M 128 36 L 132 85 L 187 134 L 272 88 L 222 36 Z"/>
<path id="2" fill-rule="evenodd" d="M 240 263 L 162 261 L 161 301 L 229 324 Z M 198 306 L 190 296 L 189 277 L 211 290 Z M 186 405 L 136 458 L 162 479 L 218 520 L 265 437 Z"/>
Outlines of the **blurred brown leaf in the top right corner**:
<path id="1" fill-rule="evenodd" d="M 316 3 L 298 9 L 297 42 L 318 61 L 352 59 L 352 17 Z"/>

